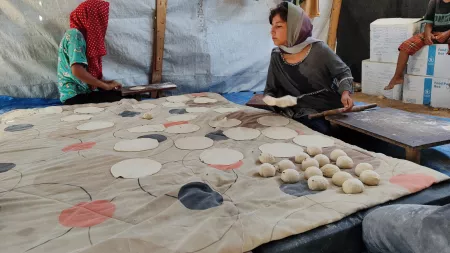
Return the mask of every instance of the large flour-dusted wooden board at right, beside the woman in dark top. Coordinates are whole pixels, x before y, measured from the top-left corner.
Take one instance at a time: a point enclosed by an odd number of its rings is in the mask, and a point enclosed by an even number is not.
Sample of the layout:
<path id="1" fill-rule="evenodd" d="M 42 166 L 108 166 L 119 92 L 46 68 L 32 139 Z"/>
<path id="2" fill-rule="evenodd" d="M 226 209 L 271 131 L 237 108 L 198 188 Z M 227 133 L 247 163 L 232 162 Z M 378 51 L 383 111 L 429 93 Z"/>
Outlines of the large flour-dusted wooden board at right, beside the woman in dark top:
<path id="1" fill-rule="evenodd" d="M 450 143 L 450 122 L 423 114 L 377 108 L 326 119 L 407 148 L 407 151 Z"/>

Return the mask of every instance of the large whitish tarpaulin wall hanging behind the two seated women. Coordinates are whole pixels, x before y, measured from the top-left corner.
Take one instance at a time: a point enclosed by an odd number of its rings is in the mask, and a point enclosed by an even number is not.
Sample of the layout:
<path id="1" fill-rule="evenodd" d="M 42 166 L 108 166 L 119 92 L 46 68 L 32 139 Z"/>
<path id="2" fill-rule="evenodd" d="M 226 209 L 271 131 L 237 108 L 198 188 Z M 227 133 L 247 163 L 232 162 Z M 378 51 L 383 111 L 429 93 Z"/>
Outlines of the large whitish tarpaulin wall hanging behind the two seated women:
<path id="1" fill-rule="evenodd" d="M 0 0 L 0 95 L 57 98 L 57 49 L 80 0 Z M 104 75 L 148 83 L 154 0 L 111 0 Z M 163 81 L 178 92 L 259 91 L 270 52 L 268 14 L 277 0 L 168 0 Z M 326 39 L 331 0 L 314 35 Z"/>

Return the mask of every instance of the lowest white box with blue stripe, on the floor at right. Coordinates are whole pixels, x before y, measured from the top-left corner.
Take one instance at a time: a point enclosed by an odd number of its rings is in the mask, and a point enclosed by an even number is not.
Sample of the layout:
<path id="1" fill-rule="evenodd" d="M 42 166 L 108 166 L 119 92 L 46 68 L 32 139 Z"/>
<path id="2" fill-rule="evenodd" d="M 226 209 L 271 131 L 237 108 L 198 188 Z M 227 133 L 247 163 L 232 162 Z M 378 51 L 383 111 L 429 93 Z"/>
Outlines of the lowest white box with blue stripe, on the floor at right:
<path id="1" fill-rule="evenodd" d="M 450 78 L 405 75 L 403 102 L 450 108 Z"/>

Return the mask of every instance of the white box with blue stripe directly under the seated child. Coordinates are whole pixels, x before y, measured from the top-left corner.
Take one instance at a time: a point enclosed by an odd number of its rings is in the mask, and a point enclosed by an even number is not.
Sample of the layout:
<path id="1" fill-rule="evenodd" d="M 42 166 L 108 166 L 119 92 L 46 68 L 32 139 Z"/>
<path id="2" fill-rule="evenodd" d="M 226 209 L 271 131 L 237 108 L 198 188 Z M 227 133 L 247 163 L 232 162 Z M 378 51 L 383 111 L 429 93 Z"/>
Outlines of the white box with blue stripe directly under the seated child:
<path id="1" fill-rule="evenodd" d="M 425 46 L 409 58 L 407 73 L 450 78 L 450 55 L 447 52 L 447 44 Z"/>

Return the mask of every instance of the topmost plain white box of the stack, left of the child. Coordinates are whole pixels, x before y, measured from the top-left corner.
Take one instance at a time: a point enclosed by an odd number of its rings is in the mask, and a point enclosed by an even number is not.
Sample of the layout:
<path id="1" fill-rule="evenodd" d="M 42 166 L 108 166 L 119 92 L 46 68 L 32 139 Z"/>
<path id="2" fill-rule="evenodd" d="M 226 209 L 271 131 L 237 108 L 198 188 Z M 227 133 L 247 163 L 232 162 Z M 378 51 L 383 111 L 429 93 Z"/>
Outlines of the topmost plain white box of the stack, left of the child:
<path id="1" fill-rule="evenodd" d="M 370 61 L 392 62 L 398 59 L 398 47 L 423 29 L 419 18 L 383 18 L 370 24 Z"/>

